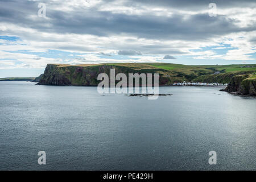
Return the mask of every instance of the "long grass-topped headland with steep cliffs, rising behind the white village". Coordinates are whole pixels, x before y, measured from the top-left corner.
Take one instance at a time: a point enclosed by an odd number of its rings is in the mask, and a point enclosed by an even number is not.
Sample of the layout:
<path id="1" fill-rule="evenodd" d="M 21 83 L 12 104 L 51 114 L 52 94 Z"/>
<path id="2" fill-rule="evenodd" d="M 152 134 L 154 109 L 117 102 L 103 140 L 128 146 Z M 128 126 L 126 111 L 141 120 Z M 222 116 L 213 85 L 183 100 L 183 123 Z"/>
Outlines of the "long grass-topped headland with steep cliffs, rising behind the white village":
<path id="1" fill-rule="evenodd" d="M 256 72 L 251 65 L 182 65 L 171 63 L 109 63 L 109 64 L 48 64 L 39 84 L 46 85 L 97 85 L 100 73 L 159 73 L 159 85 L 174 82 L 225 82 L 236 75 Z"/>

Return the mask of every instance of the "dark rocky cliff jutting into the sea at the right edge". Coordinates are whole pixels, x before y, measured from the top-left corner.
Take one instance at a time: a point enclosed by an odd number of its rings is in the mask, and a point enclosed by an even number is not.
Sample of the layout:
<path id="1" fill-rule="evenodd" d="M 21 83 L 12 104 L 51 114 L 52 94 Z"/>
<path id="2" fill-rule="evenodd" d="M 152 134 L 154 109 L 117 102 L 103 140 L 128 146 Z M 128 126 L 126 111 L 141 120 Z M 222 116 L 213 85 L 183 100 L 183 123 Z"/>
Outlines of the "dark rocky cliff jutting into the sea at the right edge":
<path id="1" fill-rule="evenodd" d="M 223 90 L 233 94 L 256 96 L 256 78 L 255 75 L 237 75 Z"/>

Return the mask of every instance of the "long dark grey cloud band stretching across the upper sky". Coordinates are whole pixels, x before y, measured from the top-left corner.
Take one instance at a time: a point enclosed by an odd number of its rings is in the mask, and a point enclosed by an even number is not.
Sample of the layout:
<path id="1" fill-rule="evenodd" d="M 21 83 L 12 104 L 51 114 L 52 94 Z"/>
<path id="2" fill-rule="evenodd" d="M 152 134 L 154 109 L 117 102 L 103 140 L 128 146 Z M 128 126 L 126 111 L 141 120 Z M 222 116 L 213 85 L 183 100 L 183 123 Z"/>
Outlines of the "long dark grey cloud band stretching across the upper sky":
<path id="1" fill-rule="evenodd" d="M 147 1 L 153 3 L 153 1 Z M 161 1 L 159 3 L 167 3 Z M 176 2 L 176 1 L 175 1 Z M 171 1 L 170 5 L 175 4 Z M 180 1 L 177 5 L 189 6 L 190 1 Z M 199 1 L 196 1 L 199 3 Z M 59 34 L 91 34 L 97 36 L 111 36 L 127 34 L 147 39 L 170 40 L 205 40 L 231 32 L 256 30 L 255 24 L 251 27 L 237 27 L 236 20 L 218 15 L 210 17 L 208 13 L 191 15 L 184 19 L 184 14 L 174 14 L 171 17 L 156 15 L 127 15 L 97 9 L 65 12 L 51 10 L 47 6 L 46 16 L 49 19 L 35 18 L 38 2 L 1 2 L 0 22 L 18 24 L 22 27 L 35 28 L 43 32 Z M 154 3 L 153 3 L 154 4 Z M 176 5 L 176 4 L 175 4 Z M 13 12 L 13 13 L 10 13 Z"/>

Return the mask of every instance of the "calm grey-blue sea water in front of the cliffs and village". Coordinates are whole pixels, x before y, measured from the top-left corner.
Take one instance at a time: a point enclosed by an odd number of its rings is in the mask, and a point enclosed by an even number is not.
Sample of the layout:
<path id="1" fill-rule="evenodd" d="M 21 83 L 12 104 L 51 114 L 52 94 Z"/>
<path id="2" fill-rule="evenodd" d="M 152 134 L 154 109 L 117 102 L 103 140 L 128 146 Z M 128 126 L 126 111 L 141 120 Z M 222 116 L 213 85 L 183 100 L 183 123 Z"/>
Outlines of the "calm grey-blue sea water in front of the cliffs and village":
<path id="1" fill-rule="evenodd" d="M 255 170 L 256 99 L 218 90 L 161 87 L 173 95 L 148 100 L 1 81 L 0 169 Z"/>

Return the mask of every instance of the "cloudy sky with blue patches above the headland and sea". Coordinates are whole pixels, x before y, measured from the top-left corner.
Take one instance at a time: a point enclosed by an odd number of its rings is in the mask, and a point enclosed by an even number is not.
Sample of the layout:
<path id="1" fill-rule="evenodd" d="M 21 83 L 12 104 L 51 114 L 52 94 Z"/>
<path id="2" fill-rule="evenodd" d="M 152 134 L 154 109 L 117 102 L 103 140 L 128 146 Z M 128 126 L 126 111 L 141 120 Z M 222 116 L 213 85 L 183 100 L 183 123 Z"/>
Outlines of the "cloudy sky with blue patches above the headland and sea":
<path id="1" fill-rule="evenodd" d="M 48 63 L 256 63 L 255 17 L 255 0 L 0 0 L 0 77 Z"/>

